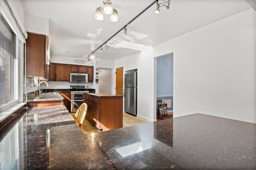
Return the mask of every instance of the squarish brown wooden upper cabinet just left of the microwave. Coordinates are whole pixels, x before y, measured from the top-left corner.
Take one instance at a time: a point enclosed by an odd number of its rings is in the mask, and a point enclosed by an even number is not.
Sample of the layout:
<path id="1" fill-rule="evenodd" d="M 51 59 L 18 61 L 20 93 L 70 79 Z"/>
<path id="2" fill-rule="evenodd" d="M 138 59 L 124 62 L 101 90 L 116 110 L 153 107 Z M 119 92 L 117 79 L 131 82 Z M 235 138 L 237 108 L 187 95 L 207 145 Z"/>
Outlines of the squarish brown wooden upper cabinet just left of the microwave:
<path id="1" fill-rule="evenodd" d="M 69 82 L 70 79 L 70 65 L 69 64 L 57 64 L 56 68 L 56 81 Z"/>

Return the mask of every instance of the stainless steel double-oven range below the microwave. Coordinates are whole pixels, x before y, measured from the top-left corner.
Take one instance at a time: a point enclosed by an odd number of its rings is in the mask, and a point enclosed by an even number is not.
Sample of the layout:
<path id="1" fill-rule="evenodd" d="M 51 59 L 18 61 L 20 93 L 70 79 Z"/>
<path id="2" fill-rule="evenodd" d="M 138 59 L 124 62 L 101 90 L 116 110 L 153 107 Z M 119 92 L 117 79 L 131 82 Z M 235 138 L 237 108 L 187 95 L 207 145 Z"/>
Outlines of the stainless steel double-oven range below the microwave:
<path id="1" fill-rule="evenodd" d="M 83 93 L 89 93 L 86 86 L 70 86 L 71 113 L 76 112 L 83 103 Z"/>

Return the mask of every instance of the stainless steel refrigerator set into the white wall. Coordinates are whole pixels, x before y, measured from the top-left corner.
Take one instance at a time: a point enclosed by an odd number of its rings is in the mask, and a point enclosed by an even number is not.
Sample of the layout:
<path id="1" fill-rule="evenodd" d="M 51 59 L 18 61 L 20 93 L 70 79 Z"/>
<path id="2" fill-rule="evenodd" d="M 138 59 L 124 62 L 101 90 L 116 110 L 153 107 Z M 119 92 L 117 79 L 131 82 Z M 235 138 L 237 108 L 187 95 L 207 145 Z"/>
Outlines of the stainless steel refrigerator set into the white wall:
<path id="1" fill-rule="evenodd" d="M 137 115 L 137 72 L 124 74 L 124 111 Z"/>

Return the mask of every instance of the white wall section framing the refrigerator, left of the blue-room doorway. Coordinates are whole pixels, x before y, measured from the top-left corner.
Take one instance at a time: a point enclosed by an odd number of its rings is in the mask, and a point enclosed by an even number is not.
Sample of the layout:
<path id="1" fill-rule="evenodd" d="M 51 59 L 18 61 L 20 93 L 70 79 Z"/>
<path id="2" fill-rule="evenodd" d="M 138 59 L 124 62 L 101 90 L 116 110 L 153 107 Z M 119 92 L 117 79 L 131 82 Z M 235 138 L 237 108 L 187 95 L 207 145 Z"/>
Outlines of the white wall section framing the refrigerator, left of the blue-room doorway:
<path id="1" fill-rule="evenodd" d="M 152 48 L 146 48 L 143 51 L 124 57 L 115 61 L 115 67 L 123 66 L 123 72 L 138 68 L 137 72 L 137 116 L 148 121 L 154 120 L 154 60 L 152 60 Z M 113 71 L 113 79 L 115 82 L 116 75 Z M 112 93 L 115 94 L 115 86 L 112 88 Z"/>

